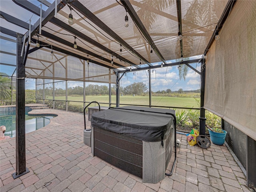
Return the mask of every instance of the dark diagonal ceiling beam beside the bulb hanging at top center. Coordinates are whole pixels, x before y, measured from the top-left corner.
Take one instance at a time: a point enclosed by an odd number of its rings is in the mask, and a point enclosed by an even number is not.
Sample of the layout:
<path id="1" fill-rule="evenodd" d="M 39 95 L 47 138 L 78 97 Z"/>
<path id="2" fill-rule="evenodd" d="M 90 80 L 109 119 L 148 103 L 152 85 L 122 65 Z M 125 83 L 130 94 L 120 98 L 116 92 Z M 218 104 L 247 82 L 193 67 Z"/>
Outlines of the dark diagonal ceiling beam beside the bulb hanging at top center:
<path id="1" fill-rule="evenodd" d="M 164 62 L 164 64 L 166 64 L 166 60 L 162 56 L 161 52 L 158 50 L 157 46 L 155 45 L 154 41 L 152 40 L 150 34 L 146 30 L 145 26 L 143 25 L 142 21 L 140 20 L 138 14 L 134 10 L 134 8 L 133 8 L 132 4 L 130 3 L 130 1 L 120 0 L 120 2 L 128 10 L 132 20 L 134 21 L 136 26 L 138 26 L 139 30 L 142 32 L 142 34 L 144 35 L 146 40 L 150 43 L 150 45 L 152 46 L 152 48 L 154 49 L 154 51 L 156 52 L 158 57 L 161 58 L 161 60 L 162 60 L 162 62 Z M 152 65 L 150 65 L 150 66 L 152 66 Z"/>

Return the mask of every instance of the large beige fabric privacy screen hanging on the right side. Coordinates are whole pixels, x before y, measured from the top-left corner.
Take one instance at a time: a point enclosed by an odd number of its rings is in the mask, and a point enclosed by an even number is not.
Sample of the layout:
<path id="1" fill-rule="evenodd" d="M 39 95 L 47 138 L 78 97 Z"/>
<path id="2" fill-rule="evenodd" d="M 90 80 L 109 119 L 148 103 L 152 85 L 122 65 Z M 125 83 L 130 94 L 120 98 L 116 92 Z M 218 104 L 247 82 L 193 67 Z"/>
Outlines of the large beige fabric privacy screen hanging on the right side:
<path id="1" fill-rule="evenodd" d="M 206 59 L 204 108 L 256 140 L 256 1 L 237 1 Z"/>

